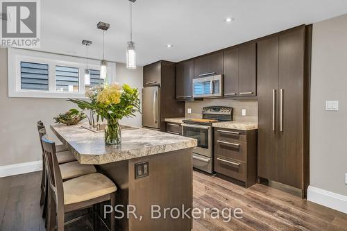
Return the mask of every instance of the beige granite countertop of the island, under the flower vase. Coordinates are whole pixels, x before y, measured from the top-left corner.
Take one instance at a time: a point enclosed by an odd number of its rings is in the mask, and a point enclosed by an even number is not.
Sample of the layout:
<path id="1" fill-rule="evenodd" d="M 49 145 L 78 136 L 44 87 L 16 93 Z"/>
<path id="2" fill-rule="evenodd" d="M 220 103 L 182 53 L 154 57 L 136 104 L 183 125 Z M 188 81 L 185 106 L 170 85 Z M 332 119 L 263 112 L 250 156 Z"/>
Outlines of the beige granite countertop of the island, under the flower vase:
<path id="1" fill-rule="evenodd" d="M 63 144 L 71 149 L 81 164 L 107 164 L 193 148 L 197 145 L 196 139 L 137 128 L 122 130 L 121 144 L 106 146 L 103 132 L 93 132 L 82 126 L 88 126 L 88 124 L 78 123 L 74 126 L 51 124 L 53 132 Z"/>

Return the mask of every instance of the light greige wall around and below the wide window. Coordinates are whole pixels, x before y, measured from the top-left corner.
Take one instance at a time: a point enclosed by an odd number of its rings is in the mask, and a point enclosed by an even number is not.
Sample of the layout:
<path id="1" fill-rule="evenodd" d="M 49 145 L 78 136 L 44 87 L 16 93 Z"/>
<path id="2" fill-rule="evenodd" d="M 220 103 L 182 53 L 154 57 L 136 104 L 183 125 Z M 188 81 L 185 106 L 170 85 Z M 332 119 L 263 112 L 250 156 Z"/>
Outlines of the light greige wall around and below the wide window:
<path id="1" fill-rule="evenodd" d="M 116 65 L 116 80 L 132 87 L 142 87 L 142 67 L 134 71 Z M 9 98 L 7 74 L 7 49 L 0 49 L 0 166 L 41 160 L 40 141 L 36 122 L 53 123 L 53 117 L 76 105 L 66 99 Z M 124 123 L 140 126 L 141 117 L 125 119 Z M 51 139 L 58 141 L 50 129 Z"/>

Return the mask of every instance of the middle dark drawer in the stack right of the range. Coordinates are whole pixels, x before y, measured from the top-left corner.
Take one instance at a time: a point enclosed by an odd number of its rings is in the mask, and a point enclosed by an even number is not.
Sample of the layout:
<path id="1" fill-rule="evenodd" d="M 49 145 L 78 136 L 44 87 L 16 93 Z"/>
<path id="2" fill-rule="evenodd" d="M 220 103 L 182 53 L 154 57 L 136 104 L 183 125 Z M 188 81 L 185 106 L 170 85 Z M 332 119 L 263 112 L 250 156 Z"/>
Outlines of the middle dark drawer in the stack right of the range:
<path id="1" fill-rule="evenodd" d="M 223 139 L 217 139 L 214 143 L 214 155 L 246 162 L 247 144 L 245 142 L 227 142 Z"/>

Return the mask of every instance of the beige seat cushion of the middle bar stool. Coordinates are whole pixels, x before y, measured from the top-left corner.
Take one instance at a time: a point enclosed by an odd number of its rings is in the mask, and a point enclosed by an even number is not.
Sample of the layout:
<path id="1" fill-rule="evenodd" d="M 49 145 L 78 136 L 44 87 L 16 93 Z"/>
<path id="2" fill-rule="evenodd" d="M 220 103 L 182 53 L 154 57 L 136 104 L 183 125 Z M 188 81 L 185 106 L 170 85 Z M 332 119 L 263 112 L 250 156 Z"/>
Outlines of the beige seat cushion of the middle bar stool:
<path id="1" fill-rule="evenodd" d="M 62 174 L 62 180 L 76 178 L 78 176 L 96 173 L 96 169 L 92 164 L 80 164 L 78 161 L 59 164 L 59 169 Z"/>

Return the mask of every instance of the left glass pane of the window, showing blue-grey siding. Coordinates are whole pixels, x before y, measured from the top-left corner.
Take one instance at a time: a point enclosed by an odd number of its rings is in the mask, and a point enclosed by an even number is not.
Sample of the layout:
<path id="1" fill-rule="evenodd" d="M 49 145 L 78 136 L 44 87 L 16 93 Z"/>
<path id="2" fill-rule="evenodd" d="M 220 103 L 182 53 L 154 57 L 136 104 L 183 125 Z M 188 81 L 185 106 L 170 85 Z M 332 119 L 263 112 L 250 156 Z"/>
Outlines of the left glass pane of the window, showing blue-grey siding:
<path id="1" fill-rule="evenodd" d="M 21 89 L 48 91 L 48 65 L 21 62 Z"/>

